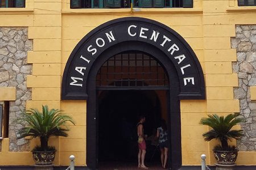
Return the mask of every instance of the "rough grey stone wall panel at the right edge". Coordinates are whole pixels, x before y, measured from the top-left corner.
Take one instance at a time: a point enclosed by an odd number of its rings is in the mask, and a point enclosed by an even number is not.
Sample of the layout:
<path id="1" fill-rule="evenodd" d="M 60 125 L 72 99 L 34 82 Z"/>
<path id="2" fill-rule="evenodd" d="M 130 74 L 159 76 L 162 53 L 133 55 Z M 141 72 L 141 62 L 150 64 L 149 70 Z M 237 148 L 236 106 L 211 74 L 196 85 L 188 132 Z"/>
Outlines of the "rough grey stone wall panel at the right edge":
<path id="1" fill-rule="evenodd" d="M 234 88 L 234 99 L 240 100 L 241 124 L 245 137 L 237 142 L 240 151 L 256 151 L 256 101 L 251 101 L 250 86 L 256 86 L 256 25 L 236 25 L 236 37 L 231 39 L 237 50 L 233 72 L 238 74 L 239 87 Z"/>

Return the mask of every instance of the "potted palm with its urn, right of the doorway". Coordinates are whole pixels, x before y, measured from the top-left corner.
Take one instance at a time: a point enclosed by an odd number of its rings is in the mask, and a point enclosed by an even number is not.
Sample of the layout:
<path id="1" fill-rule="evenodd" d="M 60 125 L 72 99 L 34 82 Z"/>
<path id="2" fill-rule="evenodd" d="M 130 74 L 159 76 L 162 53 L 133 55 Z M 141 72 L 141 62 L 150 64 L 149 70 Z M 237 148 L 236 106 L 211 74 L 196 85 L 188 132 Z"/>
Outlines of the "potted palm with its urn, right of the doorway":
<path id="1" fill-rule="evenodd" d="M 218 165 L 235 165 L 238 150 L 235 146 L 229 146 L 229 139 L 241 139 L 243 130 L 232 130 L 233 126 L 240 124 L 243 118 L 238 117 L 239 113 L 228 114 L 228 116 L 218 116 L 217 114 L 208 115 L 201 118 L 200 124 L 210 126 L 209 131 L 203 134 L 205 141 L 217 139 L 221 145 L 213 148 L 214 157 Z"/>

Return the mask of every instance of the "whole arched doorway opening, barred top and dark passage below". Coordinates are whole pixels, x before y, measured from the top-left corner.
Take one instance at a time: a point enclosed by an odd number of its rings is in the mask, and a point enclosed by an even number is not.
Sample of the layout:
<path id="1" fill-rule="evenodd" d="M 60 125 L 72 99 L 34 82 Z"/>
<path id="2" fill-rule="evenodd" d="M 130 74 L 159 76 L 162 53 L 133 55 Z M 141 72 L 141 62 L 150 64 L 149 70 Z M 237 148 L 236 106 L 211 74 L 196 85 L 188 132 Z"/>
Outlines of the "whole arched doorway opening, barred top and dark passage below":
<path id="1" fill-rule="evenodd" d="M 147 120 L 144 124 L 144 133 L 148 135 L 146 161 L 152 164 L 158 160 L 159 165 L 154 136 L 160 120 L 169 120 L 168 84 L 163 67 L 144 53 L 117 54 L 101 66 L 96 79 L 99 169 L 136 168 L 136 125 L 142 114 Z"/>

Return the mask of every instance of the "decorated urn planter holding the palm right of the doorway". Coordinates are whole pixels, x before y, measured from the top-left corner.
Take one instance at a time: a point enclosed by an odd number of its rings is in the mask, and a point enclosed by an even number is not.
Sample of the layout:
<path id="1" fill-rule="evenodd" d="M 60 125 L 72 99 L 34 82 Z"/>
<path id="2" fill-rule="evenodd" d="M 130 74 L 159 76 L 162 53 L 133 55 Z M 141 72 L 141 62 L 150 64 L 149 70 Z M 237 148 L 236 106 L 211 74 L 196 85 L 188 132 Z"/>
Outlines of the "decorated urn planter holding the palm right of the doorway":
<path id="1" fill-rule="evenodd" d="M 213 150 L 217 164 L 220 165 L 234 165 L 237 160 L 238 150 L 233 151 L 216 151 Z"/>

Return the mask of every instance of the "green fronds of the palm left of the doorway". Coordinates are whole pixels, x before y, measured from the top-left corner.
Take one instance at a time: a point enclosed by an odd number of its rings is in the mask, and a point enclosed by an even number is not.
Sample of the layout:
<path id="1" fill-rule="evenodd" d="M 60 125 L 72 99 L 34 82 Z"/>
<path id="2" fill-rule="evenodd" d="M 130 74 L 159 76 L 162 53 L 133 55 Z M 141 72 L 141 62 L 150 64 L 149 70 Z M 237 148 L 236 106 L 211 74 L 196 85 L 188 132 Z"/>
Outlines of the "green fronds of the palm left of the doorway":
<path id="1" fill-rule="evenodd" d="M 49 110 L 47 105 L 42 105 L 42 112 L 30 109 L 15 121 L 23 126 L 18 130 L 18 139 L 32 136 L 45 138 L 47 142 L 51 136 L 67 137 L 67 131 L 69 131 L 67 122 L 75 125 L 70 116 L 61 113 L 58 109 Z"/>

